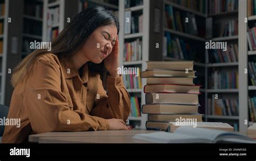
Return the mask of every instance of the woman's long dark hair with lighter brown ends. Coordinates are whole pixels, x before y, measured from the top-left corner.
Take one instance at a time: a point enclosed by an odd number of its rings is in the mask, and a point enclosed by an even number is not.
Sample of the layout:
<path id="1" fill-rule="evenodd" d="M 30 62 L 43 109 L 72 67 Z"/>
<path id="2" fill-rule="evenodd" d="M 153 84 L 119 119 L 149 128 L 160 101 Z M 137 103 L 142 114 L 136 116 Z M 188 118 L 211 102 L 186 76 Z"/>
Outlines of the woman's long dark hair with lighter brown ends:
<path id="1" fill-rule="evenodd" d="M 72 55 L 86 43 L 87 38 L 89 38 L 90 34 L 97 27 L 106 25 L 116 25 L 118 34 L 118 19 L 106 8 L 103 6 L 94 6 L 82 10 L 76 17 L 71 19 L 71 22 L 64 27 L 64 30 L 59 33 L 59 36 L 52 41 L 51 51 L 47 51 L 46 49 L 35 50 L 19 62 L 14 69 L 14 74 L 12 74 L 12 86 L 15 87 L 19 81 L 29 78 L 33 64 L 39 56 L 46 53 L 53 53 L 58 57 Z M 89 62 L 89 69 L 103 74 L 103 62 L 101 64 Z"/>

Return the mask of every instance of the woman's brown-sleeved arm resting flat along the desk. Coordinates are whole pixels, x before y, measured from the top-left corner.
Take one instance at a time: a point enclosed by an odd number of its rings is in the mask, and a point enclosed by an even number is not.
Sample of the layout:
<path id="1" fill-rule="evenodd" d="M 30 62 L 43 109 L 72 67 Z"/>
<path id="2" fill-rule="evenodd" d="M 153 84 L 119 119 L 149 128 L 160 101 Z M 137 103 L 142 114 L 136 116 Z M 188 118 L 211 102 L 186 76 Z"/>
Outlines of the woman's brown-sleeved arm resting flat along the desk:
<path id="1" fill-rule="evenodd" d="M 24 90 L 24 107 L 34 132 L 110 128 L 109 122 L 104 118 L 71 110 L 60 83 L 59 65 L 56 62 L 38 59 Z"/>

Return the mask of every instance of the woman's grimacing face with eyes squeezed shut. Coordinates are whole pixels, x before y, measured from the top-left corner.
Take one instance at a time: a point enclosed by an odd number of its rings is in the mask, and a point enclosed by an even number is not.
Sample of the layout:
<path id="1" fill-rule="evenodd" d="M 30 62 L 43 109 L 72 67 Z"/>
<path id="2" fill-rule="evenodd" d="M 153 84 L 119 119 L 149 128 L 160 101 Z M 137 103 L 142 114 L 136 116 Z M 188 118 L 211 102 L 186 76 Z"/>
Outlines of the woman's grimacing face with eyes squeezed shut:
<path id="1" fill-rule="evenodd" d="M 115 25 L 99 26 L 82 46 L 81 53 L 86 60 L 99 64 L 112 52 L 116 38 L 117 27 Z"/>

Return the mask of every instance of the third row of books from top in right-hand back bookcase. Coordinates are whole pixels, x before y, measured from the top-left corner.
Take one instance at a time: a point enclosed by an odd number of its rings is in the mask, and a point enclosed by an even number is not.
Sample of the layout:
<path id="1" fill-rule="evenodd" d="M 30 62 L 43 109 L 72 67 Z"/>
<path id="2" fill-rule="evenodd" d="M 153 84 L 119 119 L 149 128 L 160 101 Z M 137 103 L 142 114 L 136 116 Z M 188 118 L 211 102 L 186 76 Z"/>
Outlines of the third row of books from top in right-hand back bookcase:
<path id="1" fill-rule="evenodd" d="M 214 62 L 238 62 L 238 44 L 227 45 L 227 50 L 213 49 L 211 60 Z"/>

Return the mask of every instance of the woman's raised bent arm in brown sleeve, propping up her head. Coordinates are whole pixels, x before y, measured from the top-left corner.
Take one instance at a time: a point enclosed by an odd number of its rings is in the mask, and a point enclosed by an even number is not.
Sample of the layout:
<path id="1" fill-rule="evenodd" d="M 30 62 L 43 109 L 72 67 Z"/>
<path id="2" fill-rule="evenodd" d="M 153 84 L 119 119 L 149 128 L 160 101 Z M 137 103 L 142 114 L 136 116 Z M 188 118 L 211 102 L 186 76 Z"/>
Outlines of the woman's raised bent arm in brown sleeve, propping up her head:
<path id="1" fill-rule="evenodd" d="M 100 99 L 96 98 L 96 105 L 91 115 L 103 118 L 119 118 L 126 122 L 131 107 L 130 95 L 126 91 L 123 76 L 117 78 L 107 76 L 107 94 L 103 88 L 102 81 L 98 76 L 98 93 Z"/>

